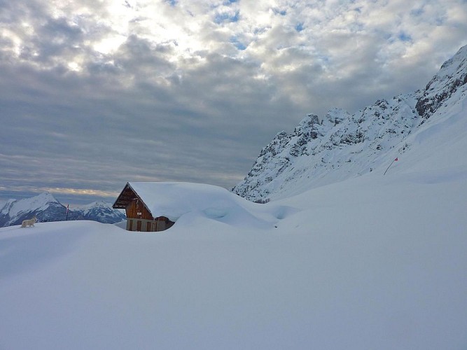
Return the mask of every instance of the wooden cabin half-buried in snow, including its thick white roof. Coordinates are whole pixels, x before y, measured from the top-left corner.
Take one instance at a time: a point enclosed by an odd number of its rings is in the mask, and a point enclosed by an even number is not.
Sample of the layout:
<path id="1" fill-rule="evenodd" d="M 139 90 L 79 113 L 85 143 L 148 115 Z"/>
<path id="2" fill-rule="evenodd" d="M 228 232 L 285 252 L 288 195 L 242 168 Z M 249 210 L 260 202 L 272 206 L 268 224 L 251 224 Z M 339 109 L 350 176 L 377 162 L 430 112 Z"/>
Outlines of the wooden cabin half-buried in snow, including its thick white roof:
<path id="1" fill-rule="evenodd" d="M 113 208 L 125 209 L 128 231 L 154 232 L 171 228 L 180 216 L 193 211 L 223 218 L 239 202 L 249 204 L 225 188 L 203 183 L 129 182 Z"/>

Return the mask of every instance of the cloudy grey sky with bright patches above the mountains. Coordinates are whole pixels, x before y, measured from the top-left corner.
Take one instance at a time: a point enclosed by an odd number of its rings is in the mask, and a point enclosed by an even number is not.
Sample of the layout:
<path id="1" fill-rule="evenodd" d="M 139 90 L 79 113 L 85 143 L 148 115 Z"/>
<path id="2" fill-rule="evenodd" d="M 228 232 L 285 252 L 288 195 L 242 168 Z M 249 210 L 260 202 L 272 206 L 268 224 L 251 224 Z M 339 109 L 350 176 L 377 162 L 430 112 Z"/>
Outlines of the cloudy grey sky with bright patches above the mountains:
<path id="1" fill-rule="evenodd" d="M 424 87 L 466 0 L 0 0 L 0 200 L 232 188 L 307 113 Z"/>

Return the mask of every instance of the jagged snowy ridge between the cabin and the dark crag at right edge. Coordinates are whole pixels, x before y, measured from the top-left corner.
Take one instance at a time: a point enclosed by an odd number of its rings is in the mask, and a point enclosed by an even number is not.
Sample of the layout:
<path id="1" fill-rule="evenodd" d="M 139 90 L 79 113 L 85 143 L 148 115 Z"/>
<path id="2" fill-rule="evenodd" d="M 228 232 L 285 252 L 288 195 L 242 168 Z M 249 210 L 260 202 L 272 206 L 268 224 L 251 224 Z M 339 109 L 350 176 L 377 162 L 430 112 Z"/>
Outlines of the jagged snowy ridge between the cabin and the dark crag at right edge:
<path id="1" fill-rule="evenodd" d="M 377 100 L 353 115 L 342 109 L 322 119 L 309 114 L 291 134 L 277 134 L 232 190 L 262 202 L 371 172 L 419 123 L 415 103 L 406 94 Z"/>

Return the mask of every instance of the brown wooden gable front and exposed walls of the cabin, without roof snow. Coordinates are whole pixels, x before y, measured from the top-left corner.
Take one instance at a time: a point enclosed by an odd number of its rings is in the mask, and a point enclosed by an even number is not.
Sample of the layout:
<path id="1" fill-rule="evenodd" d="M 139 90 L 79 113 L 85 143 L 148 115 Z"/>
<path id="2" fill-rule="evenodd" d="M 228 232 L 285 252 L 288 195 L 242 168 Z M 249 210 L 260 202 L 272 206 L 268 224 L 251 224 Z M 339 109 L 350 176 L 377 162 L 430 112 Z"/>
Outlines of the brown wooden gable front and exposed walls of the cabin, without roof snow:
<path id="1" fill-rule="evenodd" d="M 165 216 L 153 216 L 141 197 L 132 189 L 130 183 L 123 188 L 113 204 L 114 209 L 125 209 L 127 231 L 158 232 L 171 228 L 173 221 Z"/>

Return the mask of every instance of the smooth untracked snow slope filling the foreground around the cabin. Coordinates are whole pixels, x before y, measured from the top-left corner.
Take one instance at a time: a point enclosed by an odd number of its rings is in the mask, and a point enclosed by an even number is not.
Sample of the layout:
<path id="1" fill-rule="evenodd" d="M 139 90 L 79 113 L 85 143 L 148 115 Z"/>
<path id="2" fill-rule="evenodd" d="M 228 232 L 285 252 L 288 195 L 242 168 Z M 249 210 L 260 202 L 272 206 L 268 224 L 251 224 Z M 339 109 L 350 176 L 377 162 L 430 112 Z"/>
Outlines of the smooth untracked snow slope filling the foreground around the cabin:
<path id="1" fill-rule="evenodd" d="M 386 176 L 160 233 L 1 228 L 0 349 L 467 349 L 466 110 Z"/>

